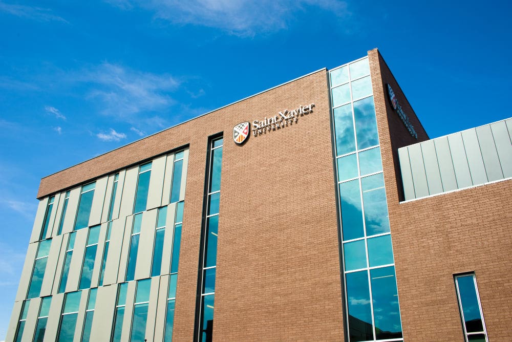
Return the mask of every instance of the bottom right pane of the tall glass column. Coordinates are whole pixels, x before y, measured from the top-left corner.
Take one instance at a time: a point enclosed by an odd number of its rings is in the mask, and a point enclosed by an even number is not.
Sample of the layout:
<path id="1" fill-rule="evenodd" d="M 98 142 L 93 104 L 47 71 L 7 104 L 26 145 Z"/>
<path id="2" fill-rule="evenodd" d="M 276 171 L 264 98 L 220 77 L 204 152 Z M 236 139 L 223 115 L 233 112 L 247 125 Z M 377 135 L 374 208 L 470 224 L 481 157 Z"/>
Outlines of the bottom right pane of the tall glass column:
<path id="1" fill-rule="evenodd" d="M 372 300 L 377 339 L 401 338 L 402 324 L 396 290 L 395 267 L 370 270 Z M 385 314 L 382 314 L 385 313 Z"/>

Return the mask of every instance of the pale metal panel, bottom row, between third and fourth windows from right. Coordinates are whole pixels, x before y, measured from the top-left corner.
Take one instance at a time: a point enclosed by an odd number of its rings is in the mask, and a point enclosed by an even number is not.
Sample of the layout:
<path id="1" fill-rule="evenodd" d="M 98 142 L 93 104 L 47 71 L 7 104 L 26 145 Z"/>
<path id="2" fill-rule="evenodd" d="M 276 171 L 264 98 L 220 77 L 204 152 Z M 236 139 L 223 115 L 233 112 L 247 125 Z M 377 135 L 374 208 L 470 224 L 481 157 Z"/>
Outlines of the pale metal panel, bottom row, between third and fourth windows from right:
<path id="1" fill-rule="evenodd" d="M 114 323 L 116 296 L 117 284 L 98 287 L 90 341 L 110 341 L 110 332 Z"/>

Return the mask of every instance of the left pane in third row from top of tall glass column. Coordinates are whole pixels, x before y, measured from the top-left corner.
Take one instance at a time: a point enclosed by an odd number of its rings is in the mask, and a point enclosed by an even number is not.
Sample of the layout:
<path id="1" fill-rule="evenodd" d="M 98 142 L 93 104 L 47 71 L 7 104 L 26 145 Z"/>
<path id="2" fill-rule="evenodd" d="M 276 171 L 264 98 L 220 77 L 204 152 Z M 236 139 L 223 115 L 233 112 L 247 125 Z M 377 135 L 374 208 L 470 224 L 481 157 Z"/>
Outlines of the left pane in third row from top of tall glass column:
<path id="1" fill-rule="evenodd" d="M 352 119 L 352 105 L 335 108 L 334 135 L 336 137 L 336 155 L 344 155 L 355 151 L 354 121 Z"/>

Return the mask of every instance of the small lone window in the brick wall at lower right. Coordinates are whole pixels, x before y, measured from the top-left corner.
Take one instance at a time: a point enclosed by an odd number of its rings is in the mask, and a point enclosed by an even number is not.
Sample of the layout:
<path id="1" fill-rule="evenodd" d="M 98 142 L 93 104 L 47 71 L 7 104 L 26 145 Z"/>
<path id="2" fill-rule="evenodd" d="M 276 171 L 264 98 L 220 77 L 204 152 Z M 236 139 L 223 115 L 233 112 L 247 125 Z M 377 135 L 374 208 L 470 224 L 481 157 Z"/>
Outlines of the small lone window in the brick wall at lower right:
<path id="1" fill-rule="evenodd" d="M 475 273 L 455 275 L 455 287 L 466 341 L 486 342 L 487 332 Z"/>

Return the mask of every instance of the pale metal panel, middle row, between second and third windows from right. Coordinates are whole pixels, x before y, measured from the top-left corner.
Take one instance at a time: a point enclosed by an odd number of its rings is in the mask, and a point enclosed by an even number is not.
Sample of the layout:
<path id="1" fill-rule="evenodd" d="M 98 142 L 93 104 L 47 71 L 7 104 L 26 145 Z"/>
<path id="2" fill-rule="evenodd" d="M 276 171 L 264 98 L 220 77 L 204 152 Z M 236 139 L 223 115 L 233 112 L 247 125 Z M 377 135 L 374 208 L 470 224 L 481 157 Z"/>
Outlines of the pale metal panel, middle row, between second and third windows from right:
<path id="1" fill-rule="evenodd" d="M 151 176 L 153 177 L 153 175 Z M 160 198 L 160 196 L 159 196 Z M 155 241 L 155 227 L 158 209 L 148 210 L 142 215 L 142 226 L 139 237 L 139 250 L 135 265 L 135 279 L 145 279 L 151 276 L 151 263 Z"/>

